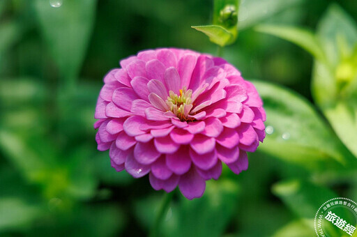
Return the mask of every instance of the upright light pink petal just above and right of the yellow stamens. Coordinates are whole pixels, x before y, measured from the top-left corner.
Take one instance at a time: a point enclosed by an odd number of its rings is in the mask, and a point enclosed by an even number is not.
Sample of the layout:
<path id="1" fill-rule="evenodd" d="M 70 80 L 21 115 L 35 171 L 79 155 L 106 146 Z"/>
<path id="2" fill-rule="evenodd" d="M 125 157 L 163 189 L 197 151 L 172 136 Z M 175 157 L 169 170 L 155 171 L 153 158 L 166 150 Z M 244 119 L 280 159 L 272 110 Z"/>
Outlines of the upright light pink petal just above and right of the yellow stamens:
<path id="1" fill-rule="evenodd" d="M 192 72 L 196 66 L 196 61 L 197 57 L 193 54 L 186 54 L 180 59 L 177 70 L 181 78 L 181 88 L 183 88 L 183 86 L 188 88 L 188 85 L 190 85 L 190 80 L 192 77 Z"/>

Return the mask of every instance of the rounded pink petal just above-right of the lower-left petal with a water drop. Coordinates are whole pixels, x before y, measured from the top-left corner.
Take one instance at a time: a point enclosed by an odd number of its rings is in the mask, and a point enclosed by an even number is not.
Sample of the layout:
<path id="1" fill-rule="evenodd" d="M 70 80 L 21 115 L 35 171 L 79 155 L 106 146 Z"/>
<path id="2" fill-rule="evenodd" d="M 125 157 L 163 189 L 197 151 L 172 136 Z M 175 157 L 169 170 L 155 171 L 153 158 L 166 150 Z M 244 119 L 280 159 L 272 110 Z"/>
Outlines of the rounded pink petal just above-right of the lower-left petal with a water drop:
<path id="1" fill-rule="evenodd" d="M 156 151 L 153 142 L 138 142 L 134 148 L 134 157 L 137 162 L 144 165 L 150 165 L 157 160 L 161 154 Z"/>

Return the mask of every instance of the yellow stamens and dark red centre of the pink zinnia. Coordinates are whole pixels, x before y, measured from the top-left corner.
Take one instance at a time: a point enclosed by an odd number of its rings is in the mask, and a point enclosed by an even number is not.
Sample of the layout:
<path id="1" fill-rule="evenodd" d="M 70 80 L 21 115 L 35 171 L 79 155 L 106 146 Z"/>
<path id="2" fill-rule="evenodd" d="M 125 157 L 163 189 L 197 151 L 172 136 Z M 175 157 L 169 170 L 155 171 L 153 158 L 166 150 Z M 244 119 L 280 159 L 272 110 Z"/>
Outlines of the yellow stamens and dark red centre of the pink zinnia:
<path id="1" fill-rule="evenodd" d="M 180 90 L 180 95 L 176 95 L 174 91 L 169 91 L 167 96 L 166 105 L 169 107 L 181 121 L 195 121 L 195 118 L 188 117 L 192 109 L 192 90 L 187 90 L 186 86 Z"/>

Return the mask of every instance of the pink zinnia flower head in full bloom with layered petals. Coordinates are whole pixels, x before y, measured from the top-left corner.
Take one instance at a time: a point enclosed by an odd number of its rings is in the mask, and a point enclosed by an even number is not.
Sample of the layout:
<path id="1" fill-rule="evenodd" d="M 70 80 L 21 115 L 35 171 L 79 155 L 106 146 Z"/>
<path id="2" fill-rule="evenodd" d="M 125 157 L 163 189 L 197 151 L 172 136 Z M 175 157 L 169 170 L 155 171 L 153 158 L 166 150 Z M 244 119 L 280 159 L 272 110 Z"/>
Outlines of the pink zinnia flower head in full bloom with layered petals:
<path id="1" fill-rule="evenodd" d="M 116 171 L 149 174 L 155 190 L 179 185 L 193 199 L 218 179 L 222 162 L 235 174 L 248 169 L 266 114 L 234 66 L 184 49 L 146 50 L 120 65 L 104 78 L 94 125 Z"/>

